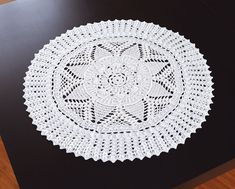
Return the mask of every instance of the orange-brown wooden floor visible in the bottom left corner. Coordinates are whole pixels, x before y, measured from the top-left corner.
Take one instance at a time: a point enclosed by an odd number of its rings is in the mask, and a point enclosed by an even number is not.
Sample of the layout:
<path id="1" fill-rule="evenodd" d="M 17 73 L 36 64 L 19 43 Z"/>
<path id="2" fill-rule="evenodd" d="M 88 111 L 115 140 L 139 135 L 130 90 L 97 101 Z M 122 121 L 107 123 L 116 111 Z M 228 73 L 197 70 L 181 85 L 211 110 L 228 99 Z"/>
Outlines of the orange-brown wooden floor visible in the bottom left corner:
<path id="1" fill-rule="evenodd" d="M 0 137 L 0 189 L 19 189 L 11 163 Z"/>

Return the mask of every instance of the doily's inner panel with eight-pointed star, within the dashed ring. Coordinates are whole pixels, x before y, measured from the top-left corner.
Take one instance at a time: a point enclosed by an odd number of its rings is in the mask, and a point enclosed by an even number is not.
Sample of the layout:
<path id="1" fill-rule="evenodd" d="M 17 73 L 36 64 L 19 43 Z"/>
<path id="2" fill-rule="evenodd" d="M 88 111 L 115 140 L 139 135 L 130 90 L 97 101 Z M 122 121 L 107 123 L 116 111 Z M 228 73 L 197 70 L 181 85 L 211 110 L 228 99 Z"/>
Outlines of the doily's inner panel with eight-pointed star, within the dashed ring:
<path id="1" fill-rule="evenodd" d="M 179 61 L 144 40 L 105 39 L 74 47 L 52 71 L 58 110 L 78 127 L 137 131 L 156 125 L 182 93 Z"/>

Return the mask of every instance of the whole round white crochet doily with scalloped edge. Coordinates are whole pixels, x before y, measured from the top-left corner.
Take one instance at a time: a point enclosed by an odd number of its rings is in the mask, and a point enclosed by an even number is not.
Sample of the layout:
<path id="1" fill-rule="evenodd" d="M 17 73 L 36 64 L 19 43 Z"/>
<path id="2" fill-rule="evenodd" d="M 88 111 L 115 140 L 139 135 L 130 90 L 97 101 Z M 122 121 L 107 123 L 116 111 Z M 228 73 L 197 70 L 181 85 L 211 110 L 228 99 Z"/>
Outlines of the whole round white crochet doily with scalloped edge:
<path id="1" fill-rule="evenodd" d="M 31 63 L 24 98 L 33 124 L 85 159 L 168 152 L 201 127 L 212 103 L 202 54 L 152 23 L 80 26 L 51 40 Z"/>

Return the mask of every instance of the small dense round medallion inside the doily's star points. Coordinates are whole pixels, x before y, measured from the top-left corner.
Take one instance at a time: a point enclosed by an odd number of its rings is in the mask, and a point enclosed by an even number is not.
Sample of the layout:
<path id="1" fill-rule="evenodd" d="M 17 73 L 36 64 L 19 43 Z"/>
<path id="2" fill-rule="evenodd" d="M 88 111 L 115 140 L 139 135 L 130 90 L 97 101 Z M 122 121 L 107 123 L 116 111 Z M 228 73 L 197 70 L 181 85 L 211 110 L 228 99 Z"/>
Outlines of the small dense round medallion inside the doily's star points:
<path id="1" fill-rule="evenodd" d="M 122 106 L 136 103 L 147 94 L 151 75 L 144 62 L 130 56 L 110 56 L 87 69 L 84 86 L 94 101 Z"/>

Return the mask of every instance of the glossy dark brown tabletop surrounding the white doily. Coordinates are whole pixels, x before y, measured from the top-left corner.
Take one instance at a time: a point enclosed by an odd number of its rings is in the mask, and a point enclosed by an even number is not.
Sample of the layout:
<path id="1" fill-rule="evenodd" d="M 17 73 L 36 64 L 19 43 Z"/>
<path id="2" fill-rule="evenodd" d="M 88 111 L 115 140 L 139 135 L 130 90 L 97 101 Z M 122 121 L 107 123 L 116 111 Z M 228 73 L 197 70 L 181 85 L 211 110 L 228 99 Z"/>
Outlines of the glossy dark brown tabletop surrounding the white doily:
<path id="1" fill-rule="evenodd" d="M 232 1 L 231 1 L 232 2 Z M 17 0 L 0 6 L 0 116 L 21 189 L 172 188 L 235 157 L 235 16 L 229 1 Z M 23 105 L 23 77 L 38 52 L 67 29 L 100 20 L 154 22 L 189 38 L 212 70 L 214 103 L 177 150 L 124 163 L 85 161 L 35 130 Z"/>

